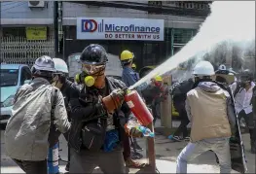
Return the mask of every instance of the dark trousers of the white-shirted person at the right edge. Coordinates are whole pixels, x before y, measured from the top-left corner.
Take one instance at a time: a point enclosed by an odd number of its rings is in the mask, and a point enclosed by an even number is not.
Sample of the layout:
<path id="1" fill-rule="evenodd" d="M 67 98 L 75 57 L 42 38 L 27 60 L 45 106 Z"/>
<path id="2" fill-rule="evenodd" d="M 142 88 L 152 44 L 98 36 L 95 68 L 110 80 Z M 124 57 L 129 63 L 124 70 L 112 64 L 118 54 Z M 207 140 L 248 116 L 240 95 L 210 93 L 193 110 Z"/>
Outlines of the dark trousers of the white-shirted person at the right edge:
<path id="1" fill-rule="evenodd" d="M 253 113 L 246 114 L 244 110 L 241 110 L 238 114 L 238 121 L 243 118 L 246 126 L 249 128 L 251 147 L 255 148 L 256 146 L 256 129 L 255 122 L 253 121 Z"/>

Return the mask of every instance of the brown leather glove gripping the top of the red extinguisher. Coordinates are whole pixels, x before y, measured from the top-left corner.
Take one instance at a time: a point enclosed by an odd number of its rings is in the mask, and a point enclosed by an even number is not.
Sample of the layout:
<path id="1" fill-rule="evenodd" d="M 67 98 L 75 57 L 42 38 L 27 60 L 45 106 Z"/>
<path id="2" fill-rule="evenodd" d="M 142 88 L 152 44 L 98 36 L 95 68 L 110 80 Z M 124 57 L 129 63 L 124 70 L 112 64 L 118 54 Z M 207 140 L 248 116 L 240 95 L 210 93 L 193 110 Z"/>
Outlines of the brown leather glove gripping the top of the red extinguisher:
<path id="1" fill-rule="evenodd" d="M 120 108 L 125 100 L 126 91 L 117 88 L 113 90 L 108 96 L 102 98 L 102 102 L 108 113 L 113 113 L 114 110 Z"/>

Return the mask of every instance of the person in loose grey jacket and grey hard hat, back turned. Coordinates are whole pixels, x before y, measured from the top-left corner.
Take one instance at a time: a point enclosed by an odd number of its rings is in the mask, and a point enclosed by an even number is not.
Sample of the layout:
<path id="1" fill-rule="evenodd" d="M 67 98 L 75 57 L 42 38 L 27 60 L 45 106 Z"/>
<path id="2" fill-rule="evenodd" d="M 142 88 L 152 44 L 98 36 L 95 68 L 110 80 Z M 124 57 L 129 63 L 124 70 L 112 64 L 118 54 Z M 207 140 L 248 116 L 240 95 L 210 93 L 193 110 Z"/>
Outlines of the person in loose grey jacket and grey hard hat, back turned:
<path id="1" fill-rule="evenodd" d="M 56 71 L 53 59 L 46 55 L 37 58 L 31 71 L 32 81 L 18 88 L 15 96 L 5 131 L 6 154 L 26 174 L 47 174 L 49 141 L 55 137 L 50 127 L 55 125 L 65 133 L 70 122 L 61 92 L 51 85 Z"/>

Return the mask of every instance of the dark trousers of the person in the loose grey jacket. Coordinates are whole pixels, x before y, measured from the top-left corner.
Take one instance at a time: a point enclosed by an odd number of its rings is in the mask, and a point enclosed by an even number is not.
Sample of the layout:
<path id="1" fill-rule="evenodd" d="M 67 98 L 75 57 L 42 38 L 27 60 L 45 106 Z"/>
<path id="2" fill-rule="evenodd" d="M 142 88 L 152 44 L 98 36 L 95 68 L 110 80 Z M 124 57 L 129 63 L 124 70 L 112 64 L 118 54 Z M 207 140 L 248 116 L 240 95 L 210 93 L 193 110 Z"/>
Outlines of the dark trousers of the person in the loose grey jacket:
<path id="1" fill-rule="evenodd" d="M 13 158 L 26 174 L 47 174 L 47 160 L 30 161 Z"/>

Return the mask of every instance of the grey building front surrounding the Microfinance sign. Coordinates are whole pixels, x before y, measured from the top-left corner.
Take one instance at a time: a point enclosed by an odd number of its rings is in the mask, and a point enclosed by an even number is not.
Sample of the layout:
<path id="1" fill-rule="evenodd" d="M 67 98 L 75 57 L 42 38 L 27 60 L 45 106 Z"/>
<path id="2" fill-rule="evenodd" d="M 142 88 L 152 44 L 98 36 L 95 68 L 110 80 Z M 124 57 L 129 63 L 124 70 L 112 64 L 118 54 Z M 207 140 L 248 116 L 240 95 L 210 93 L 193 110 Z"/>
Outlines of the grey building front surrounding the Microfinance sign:
<path id="1" fill-rule="evenodd" d="M 176 7 L 176 4 L 169 4 Z M 99 19 L 104 17 L 106 20 L 116 24 L 133 24 L 134 18 L 139 18 L 141 23 L 147 19 L 164 20 L 164 40 L 127 40 L 126 38 L 113 39 L 91 39 L 91 37 L 77 38 L 80 28 L 77 27 L 81 19 Z M 117 23 L 118 18 L 124 20 Z M 62 3 L 62 25 L 63 25 L 63 56 L 74 52 L 82 52 L 91 43 L 103 45 L 107 52 L 119 55 L 124 50 L 129 50 L 135 54 L 135 62 L 138 68 L 147 65 L 158 65 L 166 58 L 178 52 L 190 39 L 196 35 L 201 22 L 205 17 L 185 17 L 173 16 L 157 13 L 149 13 L 141 10 L 91 6 L 80 3 Z M 154 22 L 154 20 L 152 20 Z M 147 22 L 146 22 L 147 23 Z M 88 24 L 88 23 L 87 23 Z M 157 25 L 155 25 L 157 27 Z M 79 26 L 80 27 L 80 26 Z M 90 27 L 90 24 L 89 24 Z M 89 36 L 89 35 L 88 35 Z M 98 35 L 96 36 L 98 37 Z"/>

